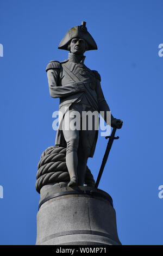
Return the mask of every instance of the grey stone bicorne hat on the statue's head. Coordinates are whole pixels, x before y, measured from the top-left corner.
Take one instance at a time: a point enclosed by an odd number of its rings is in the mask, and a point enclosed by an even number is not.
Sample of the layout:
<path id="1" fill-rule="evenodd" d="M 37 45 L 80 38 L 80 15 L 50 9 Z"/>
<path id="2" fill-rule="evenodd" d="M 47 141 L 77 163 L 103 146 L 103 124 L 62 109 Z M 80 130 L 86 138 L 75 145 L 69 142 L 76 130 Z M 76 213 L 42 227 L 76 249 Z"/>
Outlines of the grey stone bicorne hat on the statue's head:
<path id="1" fill-rule="evenodd" d="M 68 51 L 68 45 L 73 38 L 84 39 L 87 42 L 88 46 L 86 51 L 97 50 L 95 40 L 92 38 L 91 34 L 87 32 L 85 21 L 82 22 L 82 25 L 69 29 L 69 31 L 65 34 L 64 38 L 61 40 L 58 48 Z"/>

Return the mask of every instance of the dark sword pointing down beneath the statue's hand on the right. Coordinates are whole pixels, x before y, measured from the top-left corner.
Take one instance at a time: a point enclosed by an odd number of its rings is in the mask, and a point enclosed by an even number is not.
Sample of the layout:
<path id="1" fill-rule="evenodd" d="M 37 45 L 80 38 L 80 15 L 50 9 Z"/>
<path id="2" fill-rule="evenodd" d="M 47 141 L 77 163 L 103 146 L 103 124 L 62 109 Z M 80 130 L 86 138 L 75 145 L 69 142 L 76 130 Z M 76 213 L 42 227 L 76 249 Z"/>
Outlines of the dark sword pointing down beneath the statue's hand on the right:
<path id="1" fill-rule="evenodd" d="M 98 187 L 99 181 L 100 181 L 101 176 L 103 174 L 103 170 L 104 170 L 106 161 L 108 160 L 108 156 L 109 156 L 109 152 L 110 152 L 112 143 L 114 142 L 114 139 L 118 139 L 119 138 L 119 136 L 115 137 L 116 130 L 117 130 L 117 128 L 114 127 L 114 129 L 112 129 L 111 135 L 105 137 L 105 139 L 109 138 L 109 141 L 108 141 L 108 145 L 107 145 L 106 150 L 105 150 L 105 154 L 104 154 L 104 157 L 103 157 L 101 168 L 100 168 L 99 173 L 98 173 L 98 177 L 97 177 L 97 181 L 96 181 L 96 184 L 95 184 L 95 188 Z"/>

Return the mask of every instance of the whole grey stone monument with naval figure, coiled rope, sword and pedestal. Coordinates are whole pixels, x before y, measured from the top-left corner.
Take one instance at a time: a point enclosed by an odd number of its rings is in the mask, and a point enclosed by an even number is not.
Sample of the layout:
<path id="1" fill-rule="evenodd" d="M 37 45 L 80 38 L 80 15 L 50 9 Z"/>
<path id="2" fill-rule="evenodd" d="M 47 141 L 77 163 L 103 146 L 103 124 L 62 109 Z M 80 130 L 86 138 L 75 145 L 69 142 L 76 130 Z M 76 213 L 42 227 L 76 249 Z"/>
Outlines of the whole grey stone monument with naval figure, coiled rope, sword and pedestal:
<path id="1" fill-rule="evenodd" d="M 36 245 L 121 245 L 112 198 L 99 190 L 98 184 L 111 145 L 118 138 L 116 129 L 121 129 L 123 122 L 110 114 L 101 76 L 84 65 L 84 52 L 97 50 L 86 22 L 71 28 L 58 48 L 70 53 L 64 62 L 52 60 L 46 68 L 49 92 L 60 99 L 59 125 L 55 145 L 43 151 L 37 166 Z M 92 114 L 91 127 L 90 115 L 85 119 L 85 112 Z M 99 113 L 113 129 L 105 137 L 109 141 L 95 184 L 87 159 L 95 151 Z"/>

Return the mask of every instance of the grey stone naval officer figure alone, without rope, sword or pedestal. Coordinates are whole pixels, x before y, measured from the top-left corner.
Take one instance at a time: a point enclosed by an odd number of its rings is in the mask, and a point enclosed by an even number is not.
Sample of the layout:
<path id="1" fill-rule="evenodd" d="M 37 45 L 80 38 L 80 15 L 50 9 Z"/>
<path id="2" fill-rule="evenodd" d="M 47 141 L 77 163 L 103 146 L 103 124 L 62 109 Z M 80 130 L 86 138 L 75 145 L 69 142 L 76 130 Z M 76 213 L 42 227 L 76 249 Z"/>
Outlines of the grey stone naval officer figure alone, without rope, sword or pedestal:
<path id="1" fill-rule="evenodd" d="M 66 148 L 66 166 L 70 174 L 68 186 L 83 186 L 87 168 L 87 159 L 93 157 L 98 130 L 65 129 L 66 109 L 72 120 L 74 111 L 106 112 L 110 111 L 101 88 L 101 76 L 95 70 L 84 65 L 84 52 L 97 50 L 95 40 L 87 32 L 86 22 L 71 28 L 59 44 L 59 49 L 70 51 L 64 62 L 51 60 L 47 65 L 49 93 L 60 98 L 59 111 L 62 120 L 59 123 L 55 145 Z M 121 129 L 123 121 L 111 115 L 111 126 Z"/>

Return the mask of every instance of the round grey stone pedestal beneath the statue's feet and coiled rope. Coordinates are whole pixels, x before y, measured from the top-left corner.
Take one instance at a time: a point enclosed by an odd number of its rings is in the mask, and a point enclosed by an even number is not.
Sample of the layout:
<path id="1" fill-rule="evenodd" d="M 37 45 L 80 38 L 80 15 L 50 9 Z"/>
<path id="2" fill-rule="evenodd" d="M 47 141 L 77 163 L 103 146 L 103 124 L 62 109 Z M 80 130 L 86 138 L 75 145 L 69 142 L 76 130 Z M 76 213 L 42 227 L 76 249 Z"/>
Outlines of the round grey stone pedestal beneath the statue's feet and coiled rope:
<path id="1" fill-rule="evenodd" d="M 121 245 L 108 193 L 49 184 L 41 188 L 36 245 Z"/>

